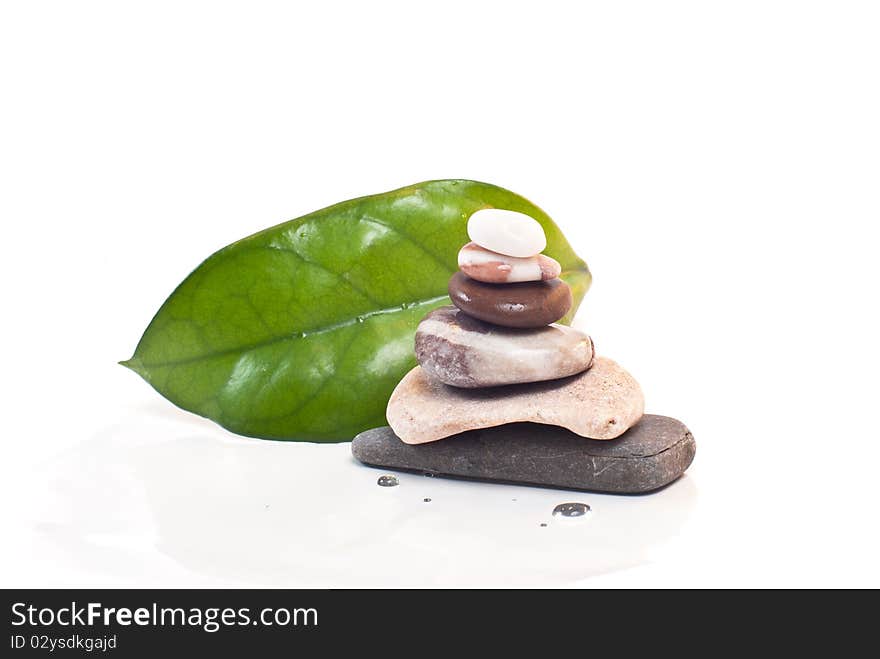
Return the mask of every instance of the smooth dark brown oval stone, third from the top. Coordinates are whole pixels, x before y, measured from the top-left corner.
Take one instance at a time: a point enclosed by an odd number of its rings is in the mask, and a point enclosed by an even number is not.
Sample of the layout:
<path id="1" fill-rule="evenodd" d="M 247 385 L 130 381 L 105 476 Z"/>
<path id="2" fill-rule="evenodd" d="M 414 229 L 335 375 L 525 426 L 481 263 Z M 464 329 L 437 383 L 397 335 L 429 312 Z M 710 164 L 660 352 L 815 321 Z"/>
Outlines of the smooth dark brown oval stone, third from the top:
<path id="1" fill-rule="evenodd" d="M 571 289 L 561 279 L 488 284 L 456 272 L 449 280 L 452 303 L 466 314 L 504 327 L 545 327 L 571 309 Z"/>

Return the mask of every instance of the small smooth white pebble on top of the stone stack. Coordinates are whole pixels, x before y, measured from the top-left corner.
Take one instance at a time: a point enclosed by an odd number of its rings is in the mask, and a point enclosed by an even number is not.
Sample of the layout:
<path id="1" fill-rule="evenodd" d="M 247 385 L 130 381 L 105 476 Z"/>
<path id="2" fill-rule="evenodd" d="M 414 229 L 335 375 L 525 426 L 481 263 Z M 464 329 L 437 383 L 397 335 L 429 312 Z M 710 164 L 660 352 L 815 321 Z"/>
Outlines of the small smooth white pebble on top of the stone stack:
<path id="1" fill-rule="evenodd" d="M 471 215 L 468 235 L 480 247 L 520 258 L 540 254 L 547 247 L 547 236 L 537 220 L 500 208 L 485 208 Z"/>

